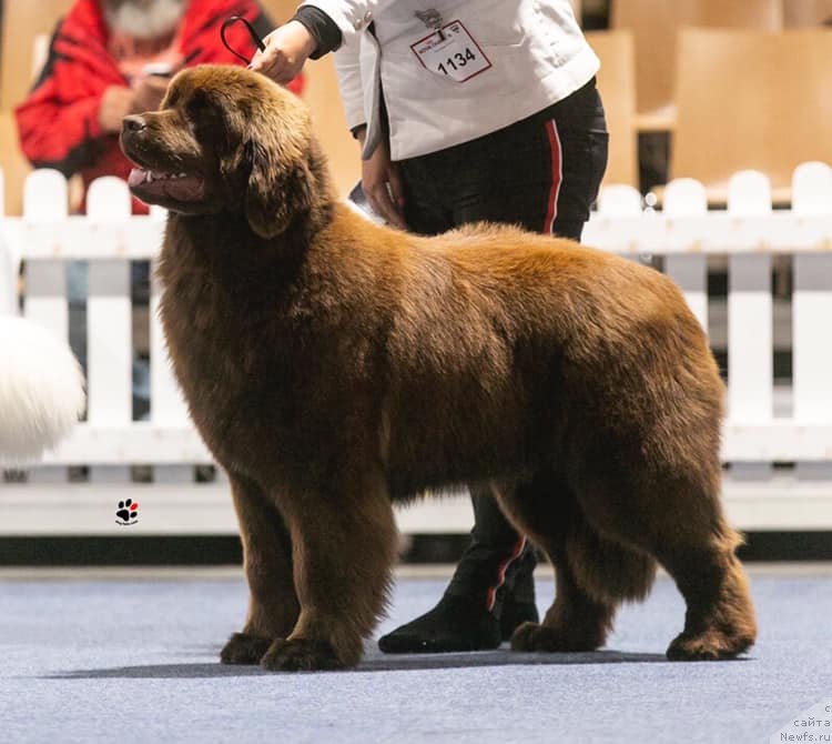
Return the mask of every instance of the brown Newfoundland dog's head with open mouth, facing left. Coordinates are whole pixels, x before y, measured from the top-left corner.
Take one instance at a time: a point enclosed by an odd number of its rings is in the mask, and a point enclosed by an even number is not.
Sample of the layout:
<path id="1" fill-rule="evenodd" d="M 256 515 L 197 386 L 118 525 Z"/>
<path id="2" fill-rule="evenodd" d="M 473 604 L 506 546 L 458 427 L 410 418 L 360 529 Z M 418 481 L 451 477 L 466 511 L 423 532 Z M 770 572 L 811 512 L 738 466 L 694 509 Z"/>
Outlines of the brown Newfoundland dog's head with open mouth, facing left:
<path id="1" fill-rule="evenodd" d="M 142 201 L 185 214 L 240 212 L 263 238 L 326 192 L 306 107 L 240 68 L 179 73 L 159 111 L 124 119 L 121 147 L 138 165 L 129 184 Z"/>

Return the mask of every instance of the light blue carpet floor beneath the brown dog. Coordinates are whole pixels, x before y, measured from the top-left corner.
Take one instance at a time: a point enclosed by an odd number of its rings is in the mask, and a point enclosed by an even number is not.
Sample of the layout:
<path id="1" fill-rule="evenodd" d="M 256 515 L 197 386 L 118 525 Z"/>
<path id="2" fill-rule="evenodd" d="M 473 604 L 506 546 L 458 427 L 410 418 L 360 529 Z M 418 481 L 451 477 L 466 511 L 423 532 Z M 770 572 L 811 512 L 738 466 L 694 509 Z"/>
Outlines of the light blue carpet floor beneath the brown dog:
<path id="1" fill-rule="evenodd" d="M 290 675 L 217 663 L 242 581 L 0 581 L 0 741 L 768 742 L 832 700 L 832 574 L 752 584 L 761 635 L 742 661 L 664 661 L 683 606 L 660 579 L 607 651 L 396 657 L 373 643 L 357 671 Z M 399 581 L 379 633 L 443 587 Z"/>

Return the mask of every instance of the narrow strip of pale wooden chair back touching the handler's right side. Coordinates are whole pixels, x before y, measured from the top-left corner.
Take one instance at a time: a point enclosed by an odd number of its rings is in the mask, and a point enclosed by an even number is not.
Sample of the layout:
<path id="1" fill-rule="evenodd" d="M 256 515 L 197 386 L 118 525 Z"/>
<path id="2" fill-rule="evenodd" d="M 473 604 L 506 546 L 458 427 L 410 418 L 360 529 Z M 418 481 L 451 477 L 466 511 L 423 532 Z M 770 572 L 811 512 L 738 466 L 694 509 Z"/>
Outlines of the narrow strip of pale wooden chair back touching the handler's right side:
<path id="1" fill-rule="evenodd" d="M 638 187 L 636 131 L 636 53 L 630 31 L 595 31 L 587 40 L 601 60 L 598 90 L 610 132 L 605 184 Z"/>

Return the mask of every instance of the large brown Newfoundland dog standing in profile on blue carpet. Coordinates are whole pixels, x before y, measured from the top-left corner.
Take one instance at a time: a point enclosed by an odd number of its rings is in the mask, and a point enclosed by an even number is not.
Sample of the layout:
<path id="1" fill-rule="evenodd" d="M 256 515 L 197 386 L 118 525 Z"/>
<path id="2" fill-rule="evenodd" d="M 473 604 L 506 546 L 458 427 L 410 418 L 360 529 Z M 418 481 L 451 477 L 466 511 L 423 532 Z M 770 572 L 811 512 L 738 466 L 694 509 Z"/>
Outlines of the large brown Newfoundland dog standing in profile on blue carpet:
<path id="1" fill-rule="evenodd" d="M 335 198 L 305 105 L 245 70 L 182 72 L 122 145 L 133 193 L 171 210 L 162 321 L 240 520 L 251 602 L 224 662 L 355 665 L 393 503 L 469 482 L 555 565 L 514 649 L 603 645 L 657 562 L 688 607 L 670 658 L 753 643 L 720 506 L 723 388 L 672 282 L 514 228 L 372 224 Z"/>

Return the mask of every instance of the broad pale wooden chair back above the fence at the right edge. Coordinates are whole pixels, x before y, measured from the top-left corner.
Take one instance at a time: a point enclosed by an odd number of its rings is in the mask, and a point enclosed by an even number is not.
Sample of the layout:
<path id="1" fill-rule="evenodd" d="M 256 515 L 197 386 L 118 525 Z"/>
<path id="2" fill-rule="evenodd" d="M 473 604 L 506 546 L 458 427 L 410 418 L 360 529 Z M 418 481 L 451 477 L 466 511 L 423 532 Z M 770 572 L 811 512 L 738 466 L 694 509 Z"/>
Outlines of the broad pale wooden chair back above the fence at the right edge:
<path id="1" fill-rule="evenodd" d="M 682 31 L 672 178 L 755 169 L 777 189 L 802 162 L 832 163 L 830 70 L 832 30 Z"/>

